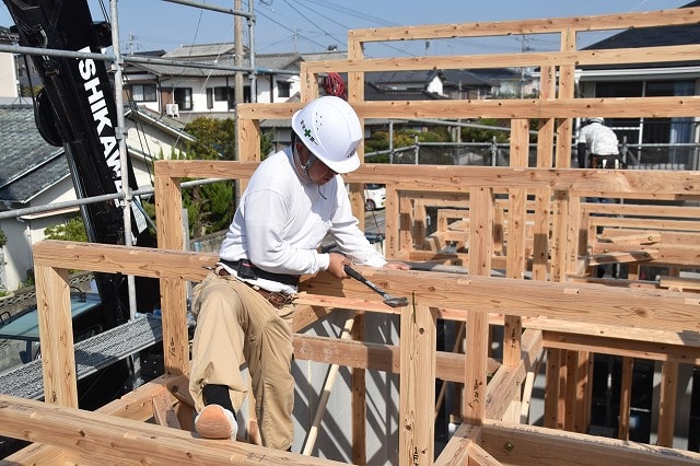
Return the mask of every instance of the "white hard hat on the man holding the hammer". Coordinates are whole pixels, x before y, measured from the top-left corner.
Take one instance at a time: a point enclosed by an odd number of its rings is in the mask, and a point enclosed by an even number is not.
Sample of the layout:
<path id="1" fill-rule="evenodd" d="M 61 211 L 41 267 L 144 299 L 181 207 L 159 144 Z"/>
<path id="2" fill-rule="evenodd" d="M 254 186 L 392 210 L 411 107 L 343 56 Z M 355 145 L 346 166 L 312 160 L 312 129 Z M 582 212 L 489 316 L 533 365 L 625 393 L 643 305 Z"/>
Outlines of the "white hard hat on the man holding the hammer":
<path id="1" fill-rule="evenodd" d="M 354 109 L 340 97 L 325 95 L 292 116 L 292 129 L 308 150 L 336 173 L 360 166 L 362 127 Z"/>

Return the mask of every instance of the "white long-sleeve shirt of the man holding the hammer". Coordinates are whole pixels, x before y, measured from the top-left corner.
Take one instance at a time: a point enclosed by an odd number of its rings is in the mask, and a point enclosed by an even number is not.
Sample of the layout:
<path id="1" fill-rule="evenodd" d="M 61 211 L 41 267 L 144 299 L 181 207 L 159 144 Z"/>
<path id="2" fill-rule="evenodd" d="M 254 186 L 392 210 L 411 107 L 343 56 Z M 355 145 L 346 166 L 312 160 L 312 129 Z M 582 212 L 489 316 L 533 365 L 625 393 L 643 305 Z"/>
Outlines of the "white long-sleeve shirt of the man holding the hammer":
<path id="1" fill-rule="evenodd" d="M 316 273 L 329 265 L 329 255 L 317 252 L 328 233 L 354 263 L 386 264 L 359 229 L 342 178 L 336 175 L 322 186 L 304 183 L 288 148 L 262 161 L 250 177 L 219 255 L 225 260 L 247 258 L 276 273 Z M 253 282 L 269 291 L 296 292 L 269 280 Z"/>

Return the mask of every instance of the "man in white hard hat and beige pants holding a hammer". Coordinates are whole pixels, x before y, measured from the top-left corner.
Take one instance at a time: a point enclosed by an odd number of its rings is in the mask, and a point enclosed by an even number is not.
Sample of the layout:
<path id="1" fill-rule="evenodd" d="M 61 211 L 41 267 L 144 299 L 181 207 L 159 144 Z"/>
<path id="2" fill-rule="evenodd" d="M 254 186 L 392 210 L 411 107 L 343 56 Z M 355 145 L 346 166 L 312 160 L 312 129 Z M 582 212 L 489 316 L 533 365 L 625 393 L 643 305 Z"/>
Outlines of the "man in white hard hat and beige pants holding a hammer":
<path id="1" fill-rule="evenodd" d="M 290 450 L 293 295 L 299 277 L 346 264 L 407 269 L 387 263 L 352 215 L 341 173 L 360 165 L 362 127 L 342 98 L 323 96 L 292 117 L 292 143 L 257 167 L 243 193 L 215 269 L 194 290 L 197 327 L 189 389 L 205 438 L 235 439 L 248 365 L 262 445 Z M 342 253 L 322 254 L 330 233 Z"/>

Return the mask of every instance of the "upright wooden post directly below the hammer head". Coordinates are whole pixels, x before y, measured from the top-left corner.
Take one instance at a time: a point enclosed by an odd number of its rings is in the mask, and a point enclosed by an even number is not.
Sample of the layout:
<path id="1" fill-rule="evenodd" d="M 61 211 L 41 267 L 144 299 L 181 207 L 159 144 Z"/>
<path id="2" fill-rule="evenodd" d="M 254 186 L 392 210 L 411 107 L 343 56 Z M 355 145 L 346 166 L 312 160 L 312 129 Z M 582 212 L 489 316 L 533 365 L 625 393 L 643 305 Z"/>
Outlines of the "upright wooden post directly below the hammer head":
<path id="1" fill-rule="evenodd" d="M 435 315 L 412 302 L 401 308 L 399 464 L 432 465 L 435 423 Z"/>

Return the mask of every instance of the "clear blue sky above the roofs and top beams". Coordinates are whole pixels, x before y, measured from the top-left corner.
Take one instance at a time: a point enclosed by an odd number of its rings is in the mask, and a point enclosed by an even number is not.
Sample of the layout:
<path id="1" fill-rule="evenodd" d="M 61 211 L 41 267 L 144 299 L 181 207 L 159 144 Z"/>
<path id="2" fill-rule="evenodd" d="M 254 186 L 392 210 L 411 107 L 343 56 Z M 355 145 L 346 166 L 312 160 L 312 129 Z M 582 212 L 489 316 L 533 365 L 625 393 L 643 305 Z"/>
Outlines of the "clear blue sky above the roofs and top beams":
<path id="1" fill-rule="evenodd" d="M 108 0 L 103 0 L 109 11 Z M 233 8 L 234 0 L 198 0 Z M 248 11 L 253 1 L 255 50 L 314 53 L 335 45 L 347 49 L 350 28 L 409 26 L 460 22 L 509 21 L 591 14 L 676 9 L 690 0 L 243 0 Z M 93 19 L 103 20 L 100 0 L 89 0 Z M 172 50 L 180 45 L 233 40 L 233 16 L 200 11 L 160 0 L 120 0 L 117 3 L 122 51 Z M 0 5 L 0 25 L 12 20 Z M 247 25 L 244 21 L 244 30 Z M 579 37 L 580 46 L 591 45 L 608 34 Z M 247 34 L 246 34 L 247 36 Z M 546 51 L 558 48 L 551 35 L 523 37 L 435 40 L 373 45 L 369 57 L 450 54 L 498 54 L 523 47 Z M 247 44 L 247 38 L 246 38 Z"/>

